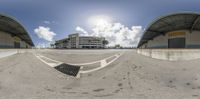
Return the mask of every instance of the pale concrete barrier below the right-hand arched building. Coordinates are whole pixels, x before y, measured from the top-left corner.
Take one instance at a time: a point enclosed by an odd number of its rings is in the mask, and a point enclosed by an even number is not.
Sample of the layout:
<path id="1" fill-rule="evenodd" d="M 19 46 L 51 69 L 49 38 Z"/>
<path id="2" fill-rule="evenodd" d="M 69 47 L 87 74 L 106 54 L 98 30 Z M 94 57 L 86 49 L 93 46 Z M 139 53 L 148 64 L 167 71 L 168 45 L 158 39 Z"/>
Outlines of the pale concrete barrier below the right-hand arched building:
<path id="1" fill-rule="evenodd" d="M 137 53 L 151 58 L 169 61 L 200 58 L 200 49 L 137 49 Z"/>

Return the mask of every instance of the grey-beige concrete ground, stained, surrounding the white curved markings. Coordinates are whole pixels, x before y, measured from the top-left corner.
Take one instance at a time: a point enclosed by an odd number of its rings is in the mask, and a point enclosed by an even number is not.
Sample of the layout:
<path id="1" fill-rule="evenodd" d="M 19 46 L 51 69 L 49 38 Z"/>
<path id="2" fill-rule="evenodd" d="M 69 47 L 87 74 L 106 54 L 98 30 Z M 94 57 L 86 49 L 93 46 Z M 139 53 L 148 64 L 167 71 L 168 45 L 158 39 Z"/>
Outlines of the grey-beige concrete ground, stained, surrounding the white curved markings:
<path id="1" fill-rule="evenodd" d="M 123 53 L 80 78 L 65 75 L 34 54 L 84 63 Z M 200 59 L 166 61 L 135 50 L 23 50 L 0 58 L 0 99 L 200 99 Z"/>

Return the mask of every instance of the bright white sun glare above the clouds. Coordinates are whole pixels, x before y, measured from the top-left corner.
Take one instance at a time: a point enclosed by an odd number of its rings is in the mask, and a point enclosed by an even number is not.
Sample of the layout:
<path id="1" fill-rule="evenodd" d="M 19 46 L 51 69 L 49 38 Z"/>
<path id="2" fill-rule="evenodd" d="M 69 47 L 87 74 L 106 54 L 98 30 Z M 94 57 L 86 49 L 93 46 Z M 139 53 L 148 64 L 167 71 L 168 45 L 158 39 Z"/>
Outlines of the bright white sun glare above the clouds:
<path id="1" fill-rule="evenodd" d="M 92 27 L 102 27 L 104 28 L 111 22 L 111 18 L 108 16 L 92 16 L 89 18 L 89 24 Z"/>

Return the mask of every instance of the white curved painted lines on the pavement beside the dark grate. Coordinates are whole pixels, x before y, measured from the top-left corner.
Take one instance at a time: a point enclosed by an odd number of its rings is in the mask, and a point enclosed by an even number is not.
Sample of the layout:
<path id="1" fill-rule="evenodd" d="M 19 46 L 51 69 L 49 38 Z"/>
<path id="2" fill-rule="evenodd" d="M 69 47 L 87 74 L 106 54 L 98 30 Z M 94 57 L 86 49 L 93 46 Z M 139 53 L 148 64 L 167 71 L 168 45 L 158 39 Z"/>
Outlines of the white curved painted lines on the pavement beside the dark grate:
<path id="1" fill-rule="evenodd" d="M 78 65 L 78 66 L 81 66 L 81 69 L 84 68 L 84 65 L 90 65 L 90 64 L 95 64 L 95 63 L 100 63 L 100 66 L 97 67 L 97 68 L 94 68 L 94 69 L 90 69 L 90 70 L 81 70 L 79 71 L 78 75 L 80 73 L 84 74 L 84 73 L 90 73 L 90 72 L 94 72 L 94 71 L 97 71 L 97 70 L 100 70 L 106 66 L 108 66 L 109 64 L 113 63 L 114 61 L 116 61 L 123 53 L 118 53 L 118 54 L 115 54 L 113 56 L 110 56 L 110 57 L 107 57 L 107 58 L 104 58 L 102 60 L 99 60 L 99 61 L 94 61 L 94 62 L 88 62 L 88 63 L 79 63 L 79 64 L 74 64 L 74 63 L 67 63 L 67 64 L 70 64 L 70 65 Z M 42 62 L 44 62 L 45 64 L 49 65 L 50 67 L 56 67 L 64 62 L 60 62 L 60 61 L 57 61 L 57 60 L 54 60 L 54 59 L 51 59 L 51 58 L 48 58 L 48 57 L 45 57 L 43 55 L 40 55 L 40 54 L 34 54 L 39 60 L 41 60 Z M 113 58 L 114 57 L 114 58 Z M 110 59 L 110 58 L 113 58 L 112 60 L 110 60 L 109 62 L 107 62 L 106 60 Z M 46 61 L 45 61 L 46 60 Z M 48 61 L 48 62 L 47 62 Z"/>

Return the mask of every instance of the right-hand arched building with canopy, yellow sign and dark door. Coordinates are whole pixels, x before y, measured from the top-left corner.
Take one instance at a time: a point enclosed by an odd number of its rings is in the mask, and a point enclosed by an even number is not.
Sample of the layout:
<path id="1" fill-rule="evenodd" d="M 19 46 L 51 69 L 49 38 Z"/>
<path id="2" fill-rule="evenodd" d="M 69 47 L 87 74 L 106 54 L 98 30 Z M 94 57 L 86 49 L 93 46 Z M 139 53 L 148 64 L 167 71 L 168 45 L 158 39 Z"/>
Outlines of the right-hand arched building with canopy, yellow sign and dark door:
<path id="1" fill-rule="evenodd" d="M 200 14 L 160 17 L 144 32 L 138 48 L 200 48 Z"/>

